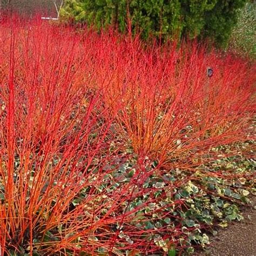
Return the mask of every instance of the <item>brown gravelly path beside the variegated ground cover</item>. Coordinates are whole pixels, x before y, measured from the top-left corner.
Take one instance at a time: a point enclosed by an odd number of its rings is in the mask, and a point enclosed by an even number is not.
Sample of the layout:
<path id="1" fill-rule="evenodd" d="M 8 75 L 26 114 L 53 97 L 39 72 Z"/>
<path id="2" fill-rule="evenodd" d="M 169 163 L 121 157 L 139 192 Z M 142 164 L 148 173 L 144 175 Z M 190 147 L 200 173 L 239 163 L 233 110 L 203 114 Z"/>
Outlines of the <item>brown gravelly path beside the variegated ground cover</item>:
<path id="1" fill-rule="evenodd" d="M 212 238 L 210 250 L 198 256 L 256 256 L 256 197 L 244 208 L 244 220 L 231 223 Z"/>

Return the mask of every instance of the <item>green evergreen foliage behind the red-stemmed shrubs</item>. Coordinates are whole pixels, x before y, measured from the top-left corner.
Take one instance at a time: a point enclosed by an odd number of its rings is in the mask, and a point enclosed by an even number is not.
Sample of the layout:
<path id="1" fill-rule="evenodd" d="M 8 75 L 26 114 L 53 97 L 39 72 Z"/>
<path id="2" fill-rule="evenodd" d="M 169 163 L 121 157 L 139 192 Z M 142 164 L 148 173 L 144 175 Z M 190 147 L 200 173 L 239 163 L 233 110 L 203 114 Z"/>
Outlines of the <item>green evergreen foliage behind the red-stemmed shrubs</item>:
<path id="1" fill-rule="evenodd" d="M 96 25 L 114 24 L 124 32 L 127 17 L 133 31 L 142 37 L 210 37 L 225 46 L 237 22 L 239 8 L 246 0 L 68 0 L 62 16 L 76 22 Z M 129 10 L 129 15 L 127 15 Z"/>

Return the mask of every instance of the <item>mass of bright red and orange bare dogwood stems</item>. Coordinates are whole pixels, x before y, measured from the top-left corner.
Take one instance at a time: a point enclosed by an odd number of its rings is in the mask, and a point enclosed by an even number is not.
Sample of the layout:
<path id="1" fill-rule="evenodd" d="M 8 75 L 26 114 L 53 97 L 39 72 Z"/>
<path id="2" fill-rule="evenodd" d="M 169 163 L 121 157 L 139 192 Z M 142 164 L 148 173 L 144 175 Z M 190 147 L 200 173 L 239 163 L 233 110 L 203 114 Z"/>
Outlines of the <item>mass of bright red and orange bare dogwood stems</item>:
<path id="1" fill-rule="evenodd" d="M 144 238 L 159 232 L 173 246 L 182 235 L 175 227 L 132 225 L 152 200 L 127 205 L 143 196 L 152 172 L 193 172 L 211 147 L 249 139 L 255 74 L 246 60 L 199 43 L 149 46 L 114 31 L 3 20 L 0 254 L 153 253 L 159 246 Z M 118 169 L 119 157 L 135 157 L 136 171 L 111 190 L 106 166 Z M 152 170 L 145 168 L 150 160 L 158 163 Z M 170 181 L 170 192 L 181 182 Z M 132 242 L 120 238 L 117 224 Z M 56 239 L 46 241 L 49 232 Z"/>

